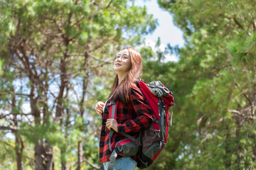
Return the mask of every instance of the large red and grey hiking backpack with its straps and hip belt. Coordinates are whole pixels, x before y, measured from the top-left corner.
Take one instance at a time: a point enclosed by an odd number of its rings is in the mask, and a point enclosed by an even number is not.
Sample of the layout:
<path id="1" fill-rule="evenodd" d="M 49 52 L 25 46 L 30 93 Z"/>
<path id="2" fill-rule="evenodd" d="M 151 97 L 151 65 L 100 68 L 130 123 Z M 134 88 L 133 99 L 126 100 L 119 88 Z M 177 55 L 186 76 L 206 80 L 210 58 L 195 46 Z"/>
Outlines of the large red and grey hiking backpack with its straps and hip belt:
<path id="1" fill-rule="evenodd" d="M 137 86 L 141 89 L 149 106 L 151 106 L 151 111 L 154 113 L 154 122 L 149 128 L 139 132 L 139 136 L 136 138 L 122 133 L 127 139 L 117 142 L 110 156 L 108 169 L 113 169 L 117 155 L 132 157 L 136 154 L 139 158 L 137 167 L 139 167 L 139 169 L 149 167 L 156 157 L 159 156 L 164 145 L 166 145 L 169 125 L 171 125 L 172 122 L 173 111 L 171 111 L 171 121 L 169 123 L 169 107 L 174 106 L 173 94 L 161 84 L 160 81 L 152 81 L 149 84 L 145 84 L 145 82 L 140 79 L 137 81 Z M 112 118 L 116 116 L 117 109 L 115 105 L 116 103 L 112 104 L 110 107 Z M 110 134 L 112 134 L 111 131 Z"/>

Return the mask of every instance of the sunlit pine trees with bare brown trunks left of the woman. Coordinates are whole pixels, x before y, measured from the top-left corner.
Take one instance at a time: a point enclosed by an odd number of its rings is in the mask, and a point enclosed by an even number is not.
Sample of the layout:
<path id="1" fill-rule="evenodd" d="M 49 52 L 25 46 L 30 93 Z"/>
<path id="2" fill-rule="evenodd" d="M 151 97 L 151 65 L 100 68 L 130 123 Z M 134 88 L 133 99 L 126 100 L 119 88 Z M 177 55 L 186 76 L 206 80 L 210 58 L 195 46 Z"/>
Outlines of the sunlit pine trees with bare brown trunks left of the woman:
<path id="1" fill-rule="evenodd" d="M 110 56 L 142 42 L 156 20 L 128 1 L 7 0 L 0 6 L 1 130 L 16 137 L 17 169 L 97 167 L 99 118 L 92 103 L 99 97 L 90 96 L 109 84 Z M 76 160 L 69 157 L 74 152 Z"/>

